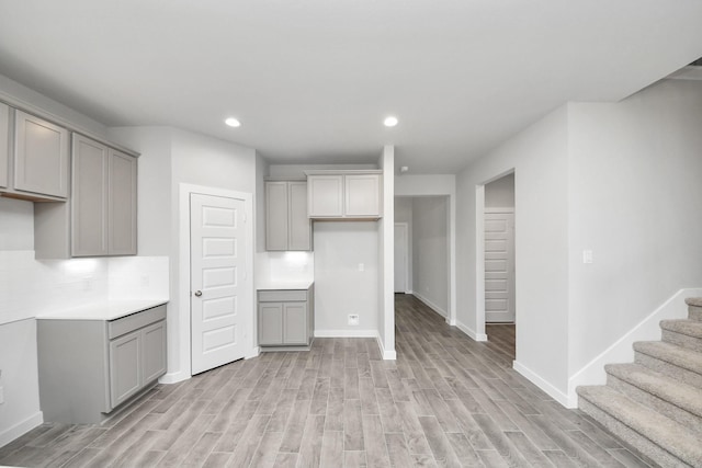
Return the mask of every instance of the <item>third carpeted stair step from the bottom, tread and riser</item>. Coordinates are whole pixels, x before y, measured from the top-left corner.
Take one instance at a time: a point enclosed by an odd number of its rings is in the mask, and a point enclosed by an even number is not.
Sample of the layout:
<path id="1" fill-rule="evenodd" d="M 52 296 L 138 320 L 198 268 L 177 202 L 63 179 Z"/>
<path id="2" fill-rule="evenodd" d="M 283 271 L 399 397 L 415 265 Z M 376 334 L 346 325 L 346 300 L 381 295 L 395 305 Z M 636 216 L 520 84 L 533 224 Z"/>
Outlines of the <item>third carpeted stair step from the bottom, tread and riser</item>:
<path id="1" fill-rule="evenodd" d="M 684 384 L 702 388 L 702 355 L 660 341 L 634 343 L 634 362 Z"/>

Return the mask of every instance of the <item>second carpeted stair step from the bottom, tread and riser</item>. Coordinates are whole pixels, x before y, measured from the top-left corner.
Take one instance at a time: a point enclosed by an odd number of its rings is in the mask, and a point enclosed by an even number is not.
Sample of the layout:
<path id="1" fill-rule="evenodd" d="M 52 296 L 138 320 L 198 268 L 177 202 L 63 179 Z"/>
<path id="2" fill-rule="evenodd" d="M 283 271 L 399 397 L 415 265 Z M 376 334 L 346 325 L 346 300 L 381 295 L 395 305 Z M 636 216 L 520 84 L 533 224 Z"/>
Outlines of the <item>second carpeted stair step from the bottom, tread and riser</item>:
<path id="1" fill-rule="evenodd" d="M 638 364 L 608 364 L 604 370 L 612 388 L 702 433 L 702 389 Z"/>

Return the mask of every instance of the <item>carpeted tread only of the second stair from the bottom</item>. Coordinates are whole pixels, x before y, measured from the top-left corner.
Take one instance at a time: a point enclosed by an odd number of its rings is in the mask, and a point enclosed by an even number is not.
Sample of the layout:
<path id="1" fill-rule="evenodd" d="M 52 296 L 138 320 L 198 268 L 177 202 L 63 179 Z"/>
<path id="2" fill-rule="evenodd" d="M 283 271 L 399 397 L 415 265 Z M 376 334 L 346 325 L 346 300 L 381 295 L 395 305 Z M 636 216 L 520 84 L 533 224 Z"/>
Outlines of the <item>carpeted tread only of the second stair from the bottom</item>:
<path id="1" fill-rule="evenodd" d="M 624 380 L 678 408 L 702 418 L 702 389 L 644 367 L 639 364 L 608 364 L 608 374 Z"/>

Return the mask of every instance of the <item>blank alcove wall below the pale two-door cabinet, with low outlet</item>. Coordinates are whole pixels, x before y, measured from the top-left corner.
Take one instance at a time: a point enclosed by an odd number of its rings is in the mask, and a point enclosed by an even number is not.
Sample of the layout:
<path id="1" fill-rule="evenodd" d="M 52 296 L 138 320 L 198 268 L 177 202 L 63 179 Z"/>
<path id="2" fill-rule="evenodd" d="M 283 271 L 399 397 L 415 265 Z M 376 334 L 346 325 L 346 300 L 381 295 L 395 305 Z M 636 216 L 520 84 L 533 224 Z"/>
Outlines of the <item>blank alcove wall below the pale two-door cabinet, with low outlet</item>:
<path id="1" fill-rule="evenodd" d="M 315 222 L 314 241 L 315 335 L 376 336 L 378 224 Z M 359 315 L 358 327 L 349 313 Z"/>

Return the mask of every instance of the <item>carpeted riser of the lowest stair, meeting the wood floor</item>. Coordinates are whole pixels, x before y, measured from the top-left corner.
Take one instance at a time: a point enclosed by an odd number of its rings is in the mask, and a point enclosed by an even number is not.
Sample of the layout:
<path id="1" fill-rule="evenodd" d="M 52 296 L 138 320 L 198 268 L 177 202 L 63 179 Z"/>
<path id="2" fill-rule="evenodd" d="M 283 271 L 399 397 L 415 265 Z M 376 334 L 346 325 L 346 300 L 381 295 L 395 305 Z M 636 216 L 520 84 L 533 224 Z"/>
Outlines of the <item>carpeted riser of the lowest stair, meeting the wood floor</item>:
<path id="1" fill-rule="evenodd" d="M 626 424 L 622 423 L 609 413 L 605 413 L 585 398 L 579 398 L 578 407 L 584 413 L 590 415 L 614 435 L 622 438 L 624 442 L 636 448 L 644 456 L 660 465 L 663 468 L 690 467 L 690 465 L 672 456 L 670 453 L 660 448 L 658 445 L 654 444 L 637 432 L 631 430 Z"/>

